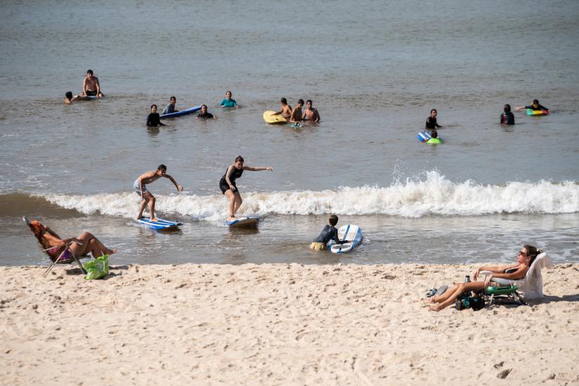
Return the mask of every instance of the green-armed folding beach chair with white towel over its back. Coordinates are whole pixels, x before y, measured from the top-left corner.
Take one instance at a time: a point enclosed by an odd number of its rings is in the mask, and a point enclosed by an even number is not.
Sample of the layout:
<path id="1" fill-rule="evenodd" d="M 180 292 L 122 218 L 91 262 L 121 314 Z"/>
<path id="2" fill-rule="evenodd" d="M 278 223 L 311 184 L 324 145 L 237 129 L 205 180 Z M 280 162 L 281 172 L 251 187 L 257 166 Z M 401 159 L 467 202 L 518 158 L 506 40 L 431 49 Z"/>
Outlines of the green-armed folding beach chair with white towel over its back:
<path id="1" fill-rule="evenodd" d="M 494 298 L 494 294 L 506 294 L 511 296 L 513 300 L 520 304 L 525 304 L 524 300 L 537 299 L 544 297 L 543 295 L 543 277 L 541 275 L 542 268 L 553 268 L 553 261 L 546 252 L 541 252 L 535 257 L 533 263 L 529 267 L 524 278 L 519 280 L 492 278 L 492 281 L 497 282 L 501 287 L 489 287 L 487 293 L 491 295 L 490 303 Z M 480 275 L 489 275 L 489 271 L 482 271 Z M 495 290 L 492 290 L 494 288 Z M 489 291 L 490 290 L 490 291 Z"/>

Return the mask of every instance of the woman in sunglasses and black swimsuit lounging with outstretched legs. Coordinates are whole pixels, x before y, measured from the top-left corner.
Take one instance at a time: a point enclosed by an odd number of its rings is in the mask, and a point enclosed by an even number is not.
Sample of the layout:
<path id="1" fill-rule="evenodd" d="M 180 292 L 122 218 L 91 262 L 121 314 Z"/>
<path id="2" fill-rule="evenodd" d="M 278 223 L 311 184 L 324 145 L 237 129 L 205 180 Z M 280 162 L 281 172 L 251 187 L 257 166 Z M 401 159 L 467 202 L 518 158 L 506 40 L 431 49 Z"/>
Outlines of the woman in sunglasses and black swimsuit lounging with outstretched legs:
<path id="1" fill-rule="evenodd" d="M 485 281 L 473 281 L 473 282 L 457 282 L 444 292 L 444 294 L 440 296 L 435 296 L 431 298 L 425 299 L 427 303 L 434 303 L 430 306 L 432 311 L 440 311 L 444 309 L 444 307 L 449 306 L 450 304 L 454 304 L 456 298 L 461 296 L 464 292 L 479 292 L 482 290 L 486 290 L 487 287 L 490 285 L 499 286 L 498 283 L 494 282 L 493 278 L 500 278 L 500 279 L 510 279 L 510 280 L 518 280 L 524 278 L 529 270 L 531 263 L 537 257 L 539 251 L 537 248 L 531 245 L 524 245 L 521 251 L 518 252 L 517 263 L 509 264 L 507 266 L 485 266 L 480 267 L 475 270 L 473 273 L 473 280 L 477 280 L 478 275 L 483 270 L 490 271 L 490 275 L 487 275 Z"/>

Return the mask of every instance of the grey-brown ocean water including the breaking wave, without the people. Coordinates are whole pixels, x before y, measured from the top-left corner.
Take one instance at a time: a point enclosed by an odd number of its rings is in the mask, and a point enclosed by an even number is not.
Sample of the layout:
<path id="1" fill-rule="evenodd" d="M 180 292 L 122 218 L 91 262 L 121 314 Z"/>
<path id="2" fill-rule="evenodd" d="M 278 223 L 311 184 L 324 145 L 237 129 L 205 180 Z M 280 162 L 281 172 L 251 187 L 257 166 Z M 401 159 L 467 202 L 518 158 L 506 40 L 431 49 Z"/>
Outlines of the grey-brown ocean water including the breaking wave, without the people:
<path id="1" fill-rule="evenodd" d="M 295 15 L 292 15 L 294 10 Z M 22 216 L 61 236 L 87 229 L 112 263 L 472 263 L 511 261 L 523 243 L 579 261 L 579 3 L 538 1 L 6 1 L 0 15 L 0 264 L 44 264 Z M 62 103 L 88 68 L 106 97 Z M 239 108 L 218 102 L 232 90 Z M 144 123 L 171 95 L 194 116 Z M 263 111 L 312 99 L 322 121 L 270 126 Z M 505 103 L 552 109 L 516 113 Z M 437 108 L 445 144 L 416 134 Z M 232 231 L 218 181 L 245 172 Z M 159 233 L 133 218 L 148 188 Z M 327 223 L 355 223 L 351 254 L 307 249 Z"/>

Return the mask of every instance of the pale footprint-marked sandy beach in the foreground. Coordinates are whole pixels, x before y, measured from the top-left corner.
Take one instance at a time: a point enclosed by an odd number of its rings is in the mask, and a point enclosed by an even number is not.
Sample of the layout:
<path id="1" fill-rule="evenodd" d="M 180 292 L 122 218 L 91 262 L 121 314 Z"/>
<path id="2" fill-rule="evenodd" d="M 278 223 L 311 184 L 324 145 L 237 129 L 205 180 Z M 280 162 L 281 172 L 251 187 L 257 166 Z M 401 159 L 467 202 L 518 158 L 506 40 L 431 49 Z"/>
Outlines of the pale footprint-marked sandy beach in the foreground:
<path id="1" fill-rule="evenodd" d="M 530 306 L 440 313 L 421 297 L 473 266 L 44 269 L 0 268 L 3 385 L 579 382 L 578 264 Z"/>

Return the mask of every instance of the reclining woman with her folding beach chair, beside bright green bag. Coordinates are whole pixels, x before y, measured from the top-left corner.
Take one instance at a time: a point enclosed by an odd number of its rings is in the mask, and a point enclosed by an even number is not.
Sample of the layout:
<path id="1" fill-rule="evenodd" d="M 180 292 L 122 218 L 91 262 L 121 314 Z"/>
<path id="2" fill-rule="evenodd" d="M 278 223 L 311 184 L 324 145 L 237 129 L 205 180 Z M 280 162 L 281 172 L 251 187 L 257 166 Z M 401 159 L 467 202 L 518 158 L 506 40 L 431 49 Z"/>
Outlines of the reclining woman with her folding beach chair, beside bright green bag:
<path id="1" fill-rule="evenodd" d="M 52 264 L 46 270 L 46 273 L 49 272 L 55 263 L 71 263 L 77 260 L 77 257 L 85 256 L 89 253 L 92 253 L 92 256 L 97 259 L 97 257 L 104 254 L 111 255 L 117 251 L 116 249 L 108 249 L 97 237 L 86 231 L 82 232 L 78 237 L 62 239 L 38 220 L 27 222 L 25 219 L 25 222 L 35 234 L 46 254 L 50 256 Z"/>

